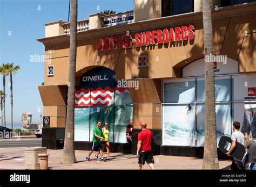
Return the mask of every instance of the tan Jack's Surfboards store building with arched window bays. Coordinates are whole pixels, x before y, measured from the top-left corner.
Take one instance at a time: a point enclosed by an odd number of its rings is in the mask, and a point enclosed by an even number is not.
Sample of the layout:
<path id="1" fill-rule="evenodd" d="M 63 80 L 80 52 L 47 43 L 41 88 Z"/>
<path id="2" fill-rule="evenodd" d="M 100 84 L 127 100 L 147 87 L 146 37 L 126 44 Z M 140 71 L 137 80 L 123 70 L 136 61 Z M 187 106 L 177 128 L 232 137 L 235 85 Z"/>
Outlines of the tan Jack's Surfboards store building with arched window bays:
<path id="1" fill-rule="evenodd" d="M 241 4 L 242 3 L 242 4 Z M 109 122 L 111 152 L 136 153 L 140 121 L 159 154 L 203 156 L 205 78 L 202 0 L 134 1 L 134 10 L 89 15 L 77 25 L 75 149 L 89 150 Z M 217 141 L 233 121 L 256 138 L 256 2 L 213 1 Z M 42 146 L 64 145 L 70 23 L 45 24 Z M 219 153 L 221 156 L 221 153 Z"/>

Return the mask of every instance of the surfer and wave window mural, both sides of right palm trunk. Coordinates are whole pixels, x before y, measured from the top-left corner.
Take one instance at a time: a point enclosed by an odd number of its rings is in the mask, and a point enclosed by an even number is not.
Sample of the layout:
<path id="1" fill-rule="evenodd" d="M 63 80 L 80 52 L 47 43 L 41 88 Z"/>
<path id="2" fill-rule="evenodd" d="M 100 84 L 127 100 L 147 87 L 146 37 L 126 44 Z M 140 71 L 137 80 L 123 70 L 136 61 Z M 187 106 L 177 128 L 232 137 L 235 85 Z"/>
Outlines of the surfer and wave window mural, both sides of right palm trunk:
<path id="1" fill-rule="evenodd" d="M 197 87 L 196 87 L 197 85 Z M 204 78 L 164 81 L 163 145 L 204 146 L 205 141 Z M 215 80 L 216 100 L 229 100 L 230 80 Z M 186 97 L 184 97 L 186 96 Z M 198 102 L 195 105 L 195 101 Z M 231 135 L 231 107 L 216 104 L 217 143 L 223 135 Z"/>

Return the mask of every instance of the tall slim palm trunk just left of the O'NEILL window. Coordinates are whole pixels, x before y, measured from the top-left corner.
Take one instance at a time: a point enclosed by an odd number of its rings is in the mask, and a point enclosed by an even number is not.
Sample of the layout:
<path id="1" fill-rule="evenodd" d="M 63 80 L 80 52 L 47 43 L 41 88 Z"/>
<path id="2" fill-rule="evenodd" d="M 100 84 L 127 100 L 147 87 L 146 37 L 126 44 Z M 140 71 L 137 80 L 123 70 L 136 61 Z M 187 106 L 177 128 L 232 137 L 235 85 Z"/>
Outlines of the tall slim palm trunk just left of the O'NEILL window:
<path id="1" fill-rule="evenodd" d="M 66 112 L 65 141 L 60 163 L 76 163 L 74 149 L 74 112 L 76 90 L 76 56 L 77 56 L 77 0 L 71 0 L 70 17 L 70 53 L 69 53 L 69 87 L 68 109 Z"/>

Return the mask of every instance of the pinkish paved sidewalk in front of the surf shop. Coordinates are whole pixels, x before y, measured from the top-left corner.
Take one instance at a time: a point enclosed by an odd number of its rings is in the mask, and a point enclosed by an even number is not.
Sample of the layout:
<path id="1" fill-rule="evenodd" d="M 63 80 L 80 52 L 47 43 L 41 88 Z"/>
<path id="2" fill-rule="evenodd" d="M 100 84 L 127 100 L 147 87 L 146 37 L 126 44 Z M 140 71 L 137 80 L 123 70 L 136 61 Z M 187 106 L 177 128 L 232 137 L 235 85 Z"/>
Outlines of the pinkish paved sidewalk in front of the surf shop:
<path id="1" fill-rule="evenodd" d="M 91 162 L 85 161 L 87 151 L 76 150 L 77 163 L 60 164 L 63 150 L 48 149 L 49 169 L 138 169 L 136 155 L 124 153 L 110 153 L 111 161 L 95 160 L 96 152 L 91 155 Z M 104 154 L 106 156 L 106 154 Z M 201 169 L 203 159 L 180 156 L 154 156 L 156 169 Z M 229 169 L 231 160 L 219 160 L 220 169 Z M 25 169 L 23 148 L 0 148 L 0 169 Z M 147 164 L 143 169 L 150 169 Z"/>

